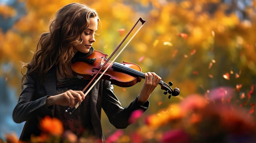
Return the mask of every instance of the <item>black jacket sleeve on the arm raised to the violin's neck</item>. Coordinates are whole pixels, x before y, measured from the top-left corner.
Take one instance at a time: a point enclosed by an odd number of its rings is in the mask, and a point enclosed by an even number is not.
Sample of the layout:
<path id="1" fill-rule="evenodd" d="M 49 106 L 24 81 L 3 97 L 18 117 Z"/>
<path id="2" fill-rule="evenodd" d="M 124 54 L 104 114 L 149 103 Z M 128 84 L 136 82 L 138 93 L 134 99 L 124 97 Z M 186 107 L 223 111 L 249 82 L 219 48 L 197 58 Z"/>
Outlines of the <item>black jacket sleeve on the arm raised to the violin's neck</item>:
<path id="1" fill-rule="evenodd" d="M 149 101 L 146 101 L 144 105 L 139 105 L 137 103 L 137 98 L 130 103 L 129 106 L 123 108 L 121 106 L 120 101 L 114 94 L 113 86 L 111 84 L 105 84 L 106 88 L 104 88 L 103 92 L 103 101 L 102 101 L 102 108 L 108 119 L 115 128 L 126 128 L 129 123 L 130 115 L 135 110 L 142 110 L 145 112 L 149 107 Z"/>

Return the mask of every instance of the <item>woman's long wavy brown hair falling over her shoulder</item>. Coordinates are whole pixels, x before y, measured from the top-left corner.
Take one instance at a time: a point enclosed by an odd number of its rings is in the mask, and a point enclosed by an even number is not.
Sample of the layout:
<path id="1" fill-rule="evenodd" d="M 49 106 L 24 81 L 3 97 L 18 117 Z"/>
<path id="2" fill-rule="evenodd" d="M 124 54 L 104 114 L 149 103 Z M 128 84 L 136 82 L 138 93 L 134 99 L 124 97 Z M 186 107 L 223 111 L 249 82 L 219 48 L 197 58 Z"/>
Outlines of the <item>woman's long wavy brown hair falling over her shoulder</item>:
<path id="1" fill-rule="evenodd" d="M 41 35 L 33 58 L 22 63 L 22 68 L 38 73 L 41 84 L 53 66 L 58 71 L 62 68 L 67 77 L 66 65 L 74 57 L 72 46 L 83 42 L 81 35 L 90 24 L 89 18 L 94 17 L 98 18 L 97 12 L 85 4 L 71 3 L 59 9 L 50 21 L 49 32 Z"/>

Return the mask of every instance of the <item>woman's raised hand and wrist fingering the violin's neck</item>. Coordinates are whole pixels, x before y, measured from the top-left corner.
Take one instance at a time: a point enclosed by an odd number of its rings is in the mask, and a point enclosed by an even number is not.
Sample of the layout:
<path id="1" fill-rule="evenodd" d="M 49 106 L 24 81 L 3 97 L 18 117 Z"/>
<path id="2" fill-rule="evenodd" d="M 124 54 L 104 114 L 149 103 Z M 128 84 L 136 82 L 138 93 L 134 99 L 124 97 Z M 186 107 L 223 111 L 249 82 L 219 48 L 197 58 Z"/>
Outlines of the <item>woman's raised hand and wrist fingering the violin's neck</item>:
<path id="1" fill-rule="evenodd" d="M 139 97 L 137 99 L 137 102 L 140 105 L 143 105 L 149 99 L 151 93 L 157 87 L 157 85 L 162 79 L 154 72 L 144 73 L 144 75 L 145 75 L 145 81 L 141 88 Z"/>

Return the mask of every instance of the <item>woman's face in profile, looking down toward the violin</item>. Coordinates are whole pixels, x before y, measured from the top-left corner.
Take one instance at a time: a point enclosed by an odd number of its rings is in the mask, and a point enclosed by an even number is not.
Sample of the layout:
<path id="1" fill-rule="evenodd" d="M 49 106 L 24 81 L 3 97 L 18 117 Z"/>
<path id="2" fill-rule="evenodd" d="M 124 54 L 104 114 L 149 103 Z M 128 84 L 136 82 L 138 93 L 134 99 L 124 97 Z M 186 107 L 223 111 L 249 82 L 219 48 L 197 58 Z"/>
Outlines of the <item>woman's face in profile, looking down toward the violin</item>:
<path id="1" fill-rule="evenodd" d="M 92 43 L 95 42 L 95 32 L 98 30 L 98 18 L 90 18 L 90 25 L 82 33 L 83 42 L 79 45 L 73 46 L 73 52 L 77 53 L 78 51 L 82 53 L 88 53 L 92 47 Z"/>

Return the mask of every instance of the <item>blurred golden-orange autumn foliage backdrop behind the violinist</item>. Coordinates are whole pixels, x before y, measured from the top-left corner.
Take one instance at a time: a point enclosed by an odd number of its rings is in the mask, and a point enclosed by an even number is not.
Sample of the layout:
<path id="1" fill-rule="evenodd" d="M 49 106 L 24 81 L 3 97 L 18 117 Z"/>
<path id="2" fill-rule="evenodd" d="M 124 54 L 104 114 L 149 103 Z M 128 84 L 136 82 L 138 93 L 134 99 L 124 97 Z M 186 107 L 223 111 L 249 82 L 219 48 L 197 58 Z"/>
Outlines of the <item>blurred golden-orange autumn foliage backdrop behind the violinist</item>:
<path id="1" fill-rule="evenodd" d="M 140 17 L 146 20 L 116 62 L 136 63 L 142 72 L 153 71 L 166 83 L 172 81 L 172 88 L 180 88 L 179 96 L 168 99 L 159 86 L 141 121 L 122 131 L 122 141 L 131 141 L 130 134 L 135 130 L 149 131 L 143 119 L 151 119 L 151 124 L 155 120 L 148 116 L 180 114 L 163 111 L 175 110 L 175 105 L 189 97 L 186 101 L 194 101 L 197 107 L 200 101 L 220 99 L 222 105 L 238 107 L 244 117 L 255 121 L 256 0 L 0 0 L 0 138 L 12 131 L 19 136 L 22 130 L 23 124 L 14 123 L 11 117 L 20 94 L 20 61 L 30 61 L 50 18 L 70 2 L 97 10 L 101 34 L 94 48 L 108 55 Z M 143 82 L 130 88 L 115 86 L 124 107 L 139 94 Z M 191 98 L 195 94 L 199 97 Z M 218 106 L 216 110 L 223 112 Z M 113 135 L 117 129 L 104 113 L 102 116 L 105 136 Z M 160 124 L 171 124 L 171 117 Z M 161 132 L 167 129 L 161 125 L 144 138 L 163 136 Z M 175 125 L 172 122 L 169 129 Z"/>

